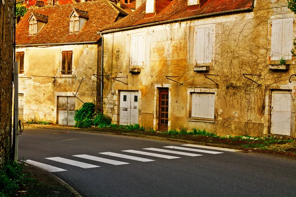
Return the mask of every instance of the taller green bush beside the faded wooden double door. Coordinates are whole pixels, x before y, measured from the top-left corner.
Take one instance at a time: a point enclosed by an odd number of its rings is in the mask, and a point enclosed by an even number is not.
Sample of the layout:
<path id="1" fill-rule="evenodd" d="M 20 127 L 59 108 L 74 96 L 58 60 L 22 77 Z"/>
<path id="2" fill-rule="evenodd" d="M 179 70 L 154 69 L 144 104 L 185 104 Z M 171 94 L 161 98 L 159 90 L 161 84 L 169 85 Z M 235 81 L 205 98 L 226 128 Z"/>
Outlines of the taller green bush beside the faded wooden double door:
<path id="1" fill-rule="evenodd" d="M 95 112 L 95 104 L 92 102 L 84 103 L 80 109 L 75 110 L 74 127 L 84 128 L 92 126 L 92 118 Z"/>

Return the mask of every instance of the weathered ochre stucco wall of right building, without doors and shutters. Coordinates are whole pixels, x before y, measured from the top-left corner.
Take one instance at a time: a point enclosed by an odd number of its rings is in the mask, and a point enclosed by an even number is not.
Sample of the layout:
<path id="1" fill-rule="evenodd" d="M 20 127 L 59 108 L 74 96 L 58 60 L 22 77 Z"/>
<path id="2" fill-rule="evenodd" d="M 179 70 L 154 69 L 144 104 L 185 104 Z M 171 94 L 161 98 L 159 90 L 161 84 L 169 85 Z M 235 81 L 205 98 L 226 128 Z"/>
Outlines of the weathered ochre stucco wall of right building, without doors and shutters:
<path id="1" fill-rule="evenodd" d="M 205 129 L 219 135 L 270 135 L 271 90 L 291 90 L 295 95 L 295 72 L 270 70 L 271 20 L 294 17 L 281 1 L 257 0 L 253 12 L 153 26 L 104 35 L 104 110 L 119 123 L 121 90 L 139 91 L 139 124 L 158 130 L 158 88 L 169 88 L 168 130 Z M 211 63 L 193 64 L 194 29 L 213 28 Z M 131 73 L 131 35 L 145 33 L 145 60 L 140 73 Z M 294 37 L 296 28 L 294 25 Z M 209 66 L 196 72 L 194 66 Z M 218 85 L 204 74 L 210 76 Z M 254 81 L 247 79 L 243 74 Z M 177 82 L 167 79 L 166 76 Z M 169 77 L 170 78 L 170 77 Z M 125 84 L 127 83 L 127 85 Z M 214 120 L 190 117 L 192 93 L 215 94 Z M 294 104 L 295 99 L 293 99 Z M 291 136 L 295 133 L 295 109 L 291 113 Z"/>

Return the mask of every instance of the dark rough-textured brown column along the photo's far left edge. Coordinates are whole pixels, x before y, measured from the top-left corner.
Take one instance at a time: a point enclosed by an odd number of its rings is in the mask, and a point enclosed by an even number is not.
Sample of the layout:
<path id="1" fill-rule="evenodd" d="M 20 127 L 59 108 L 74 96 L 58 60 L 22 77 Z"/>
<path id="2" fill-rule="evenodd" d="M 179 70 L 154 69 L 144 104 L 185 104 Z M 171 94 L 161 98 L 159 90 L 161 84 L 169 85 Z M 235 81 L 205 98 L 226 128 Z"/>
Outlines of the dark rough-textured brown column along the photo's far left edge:
<path id="1" fill-rule="evenodd" d="M 11 146 L 13 10 L 13 0 L 0 1 L 0 164 Z"/>

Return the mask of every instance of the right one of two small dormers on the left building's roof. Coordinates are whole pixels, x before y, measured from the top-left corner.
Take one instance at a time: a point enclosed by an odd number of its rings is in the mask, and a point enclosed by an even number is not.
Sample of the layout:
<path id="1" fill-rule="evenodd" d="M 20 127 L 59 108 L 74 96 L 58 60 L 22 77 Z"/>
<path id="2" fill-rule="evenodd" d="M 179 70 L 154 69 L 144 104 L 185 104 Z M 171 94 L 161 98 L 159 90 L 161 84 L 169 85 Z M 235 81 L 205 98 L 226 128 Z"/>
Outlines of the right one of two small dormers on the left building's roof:
<path id="1" fill-rule="evenodd" d="M 70 34 L 77 34 L 82 29 L 84 23 L 88 19 L 88 12 L 73 8 L 71 14 L 69 15 L 70 18 L 70 26 L 69 26 L 69 33 Z"/>

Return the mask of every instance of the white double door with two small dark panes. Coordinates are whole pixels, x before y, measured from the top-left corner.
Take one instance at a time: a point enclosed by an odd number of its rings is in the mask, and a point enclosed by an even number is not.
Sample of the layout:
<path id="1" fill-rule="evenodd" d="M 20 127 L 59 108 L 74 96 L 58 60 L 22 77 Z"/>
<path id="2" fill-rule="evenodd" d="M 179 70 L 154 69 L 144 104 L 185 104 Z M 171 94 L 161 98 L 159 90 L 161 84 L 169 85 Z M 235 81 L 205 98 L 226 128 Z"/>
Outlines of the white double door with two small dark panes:
<path id="1" fill-rule="evenodd" d="M 120 91 L 119 124 L 138 124 L 139 98 L 137 91 Z"/>

